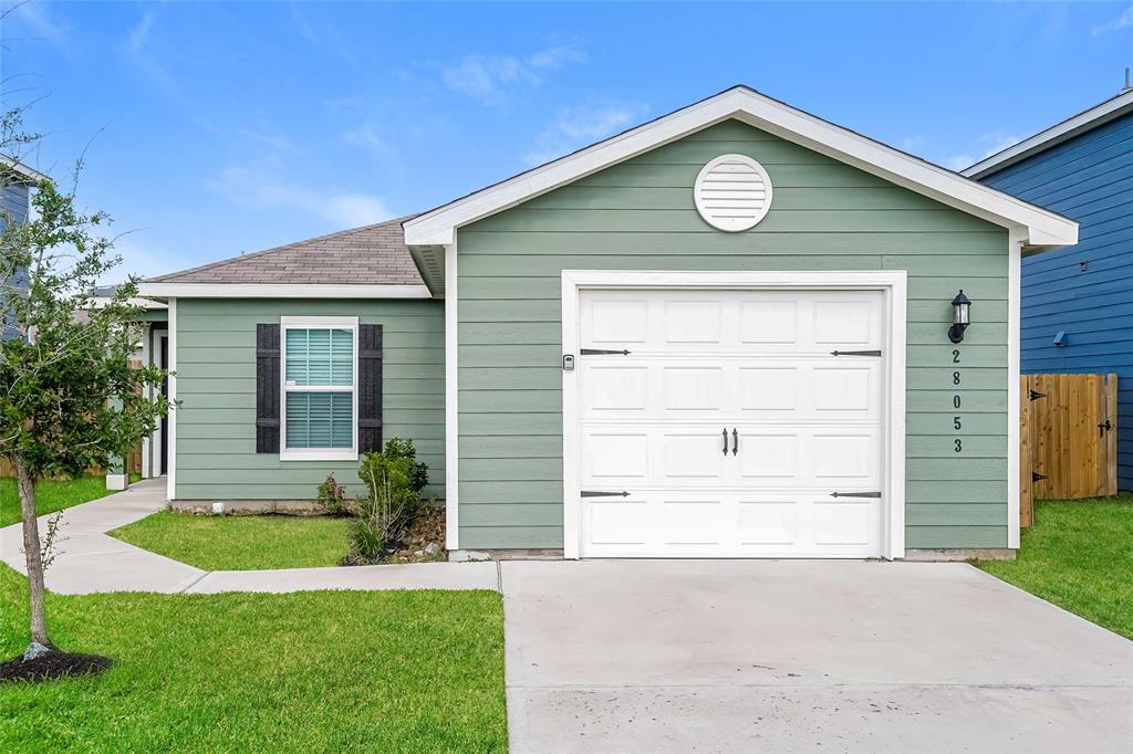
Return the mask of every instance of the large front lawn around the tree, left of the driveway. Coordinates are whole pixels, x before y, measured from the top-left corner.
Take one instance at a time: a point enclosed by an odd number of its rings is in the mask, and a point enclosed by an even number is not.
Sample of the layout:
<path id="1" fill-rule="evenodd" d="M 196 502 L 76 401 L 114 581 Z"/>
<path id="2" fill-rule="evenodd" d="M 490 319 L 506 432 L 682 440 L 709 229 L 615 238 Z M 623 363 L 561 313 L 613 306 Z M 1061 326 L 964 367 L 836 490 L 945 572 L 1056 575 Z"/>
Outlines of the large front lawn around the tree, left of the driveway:
<path id="1" fill-rule="evenodd" d="M 0 566 L 0 657 L 27 641 Z M 496 752 L 494 592 L 48 596 L 59 646 L 104 675 L 0 688 L 2 752 Z"/>

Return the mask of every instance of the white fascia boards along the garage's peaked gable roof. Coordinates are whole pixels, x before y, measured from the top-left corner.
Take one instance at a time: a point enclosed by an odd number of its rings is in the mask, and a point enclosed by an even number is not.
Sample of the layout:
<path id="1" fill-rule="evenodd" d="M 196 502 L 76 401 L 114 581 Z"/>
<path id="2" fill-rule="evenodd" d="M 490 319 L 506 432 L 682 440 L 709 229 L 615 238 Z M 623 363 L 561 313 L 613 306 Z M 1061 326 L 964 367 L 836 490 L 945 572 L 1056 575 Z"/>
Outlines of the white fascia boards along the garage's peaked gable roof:
<path id="1" fill-rule="evenodd" d="M 752 89 L 736 87 L 414 217 L 403 225 L 406 243 L 451 243 L 455 229 L 462 225 L 729 118 L 860 168 L 1003 228 L 1013 231 L 1023 229 L 1030 246 L 1070 246 L 1077 242 L 1077 223 L 1072 220 L 795 110 Z"/>

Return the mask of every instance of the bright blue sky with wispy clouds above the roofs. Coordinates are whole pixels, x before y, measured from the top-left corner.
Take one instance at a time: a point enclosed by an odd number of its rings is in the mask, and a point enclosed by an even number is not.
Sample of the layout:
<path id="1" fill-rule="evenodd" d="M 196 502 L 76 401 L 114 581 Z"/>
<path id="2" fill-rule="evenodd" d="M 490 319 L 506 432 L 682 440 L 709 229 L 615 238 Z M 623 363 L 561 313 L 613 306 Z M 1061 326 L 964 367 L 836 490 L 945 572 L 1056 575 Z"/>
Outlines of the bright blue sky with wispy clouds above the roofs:
<path id="1" fill-rule="evenodd" d="M 5 0 L 3 7 L 11 7 Z M 1113 94 L 1122 3 L 62 3 L 2 29 L 35 168 L 171 272 L 419 212 L 733 84 L 959 168 Z M 92 142 L 93 139 L 93 142 Z"/>

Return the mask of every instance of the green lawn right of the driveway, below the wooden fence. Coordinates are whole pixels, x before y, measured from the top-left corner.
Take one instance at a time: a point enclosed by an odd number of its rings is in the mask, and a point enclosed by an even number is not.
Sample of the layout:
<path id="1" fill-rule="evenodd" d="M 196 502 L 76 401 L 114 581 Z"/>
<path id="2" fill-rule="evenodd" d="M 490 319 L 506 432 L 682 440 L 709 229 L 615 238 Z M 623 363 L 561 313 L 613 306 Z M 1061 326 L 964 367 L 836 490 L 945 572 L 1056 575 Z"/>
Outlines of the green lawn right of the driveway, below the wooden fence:
<path id="1" fill-rule="evenodd" d="M 1133 495 L 1041 500 L 1019 558 L 977 565 L 1133 639 Z"/>

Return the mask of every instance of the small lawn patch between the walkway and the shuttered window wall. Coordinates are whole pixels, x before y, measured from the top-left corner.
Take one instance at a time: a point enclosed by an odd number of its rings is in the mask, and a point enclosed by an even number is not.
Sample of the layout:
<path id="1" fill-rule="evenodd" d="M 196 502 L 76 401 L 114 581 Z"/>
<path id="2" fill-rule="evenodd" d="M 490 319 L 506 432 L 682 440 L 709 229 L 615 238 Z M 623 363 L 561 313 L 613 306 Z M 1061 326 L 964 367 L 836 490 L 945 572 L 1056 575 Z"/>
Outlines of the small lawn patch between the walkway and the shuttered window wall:
<path id="1" fill-rule="evenodd" d="M 326 516 L 162 511 L 110 535 L 205 571 L 333 566 L 347 554 L 347 519 Z"/>

